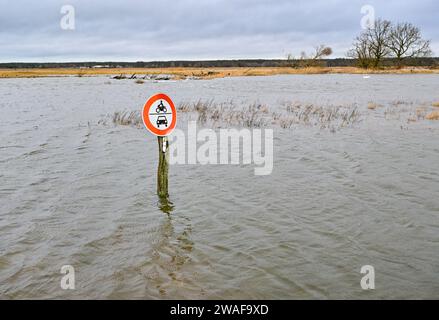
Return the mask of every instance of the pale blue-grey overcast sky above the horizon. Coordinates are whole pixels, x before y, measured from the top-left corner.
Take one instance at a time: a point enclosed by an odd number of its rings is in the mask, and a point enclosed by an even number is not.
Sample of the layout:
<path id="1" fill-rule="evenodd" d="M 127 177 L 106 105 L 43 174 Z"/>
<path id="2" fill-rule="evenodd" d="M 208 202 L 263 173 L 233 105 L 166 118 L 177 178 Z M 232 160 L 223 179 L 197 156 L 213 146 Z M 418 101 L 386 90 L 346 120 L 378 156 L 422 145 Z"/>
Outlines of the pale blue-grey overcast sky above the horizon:
<path id="1" fill-rule="evenodd" d="M 63 5 L 75 29 L 60 26 Z M 361 7 L 419 26 L 439 55 L 438 0 L 0 0 L 0 62 L 344 57 Z"/>

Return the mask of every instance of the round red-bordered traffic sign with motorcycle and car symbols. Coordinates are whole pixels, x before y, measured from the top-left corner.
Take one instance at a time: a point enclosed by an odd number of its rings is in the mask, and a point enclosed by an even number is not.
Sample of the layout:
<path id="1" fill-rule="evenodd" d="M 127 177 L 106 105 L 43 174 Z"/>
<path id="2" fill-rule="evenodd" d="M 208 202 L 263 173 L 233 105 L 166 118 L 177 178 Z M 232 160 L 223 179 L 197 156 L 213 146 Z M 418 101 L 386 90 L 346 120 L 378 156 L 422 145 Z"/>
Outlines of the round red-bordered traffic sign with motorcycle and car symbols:
<path id="1" fill-rule="evenodd" d="M 164 93 L 150 97 L 142 111 L 143 124 L 156 136 L 167 136 L 177 124 L 177 110 L 174 103 Z"/>

